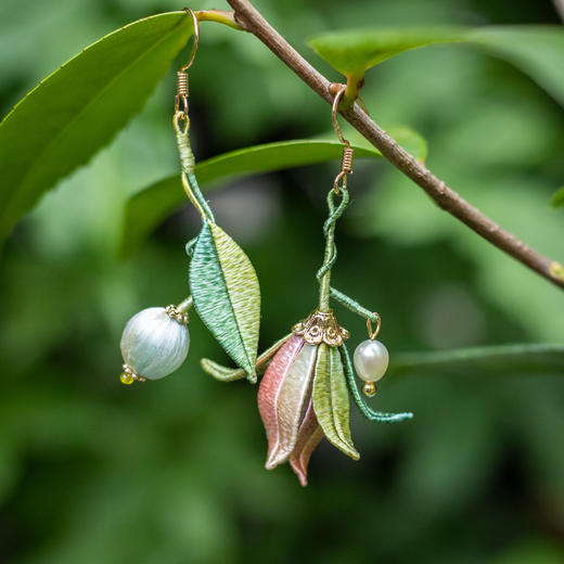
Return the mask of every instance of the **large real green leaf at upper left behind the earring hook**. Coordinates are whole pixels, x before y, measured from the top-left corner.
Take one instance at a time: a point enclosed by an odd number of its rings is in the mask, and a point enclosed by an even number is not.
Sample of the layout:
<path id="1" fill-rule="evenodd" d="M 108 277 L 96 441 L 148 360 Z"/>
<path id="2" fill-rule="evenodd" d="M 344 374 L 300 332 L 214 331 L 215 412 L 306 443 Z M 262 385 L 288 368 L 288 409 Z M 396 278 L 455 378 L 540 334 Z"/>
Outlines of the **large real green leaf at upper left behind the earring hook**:
<path id="1" fill-rule="evenodd" d="M 0 124 L 0 240 L 143 107 L 191 35 L 184 12 L 134 22 L 86 48 L 8 114 Z"/>

